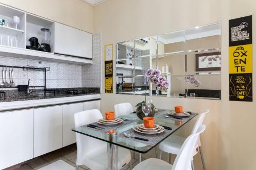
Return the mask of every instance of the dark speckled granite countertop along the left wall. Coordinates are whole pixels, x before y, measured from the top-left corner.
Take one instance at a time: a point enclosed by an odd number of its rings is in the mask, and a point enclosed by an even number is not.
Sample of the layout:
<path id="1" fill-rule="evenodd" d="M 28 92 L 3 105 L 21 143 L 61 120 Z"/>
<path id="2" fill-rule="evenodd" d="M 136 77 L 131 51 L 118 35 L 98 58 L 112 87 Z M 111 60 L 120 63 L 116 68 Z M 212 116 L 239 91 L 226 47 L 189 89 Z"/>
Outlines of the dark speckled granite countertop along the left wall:
<path id="1" fill-rule="evenodd" d="M 63 89 L 54 89 L 54 93 L 46 93 L 43 92 L 35 92 L 30 95 L 18 92 L 17 90 L 5 90 L 6 98 L 0 98 L 0 102 L 15 102 L 15 101 L 31 101 L 31 100 L 41 100 L 41 99 L 53 99 L 53 98 L 67 98 L 73 96 L 82 96 L 82 95 L 92 95 L 92 94 L 100 94 L 100 90 L 98 88 L 63 88 Z M 86 93 L 83 94 L 68 94 L 67 90 L 84 90 Z"/>

